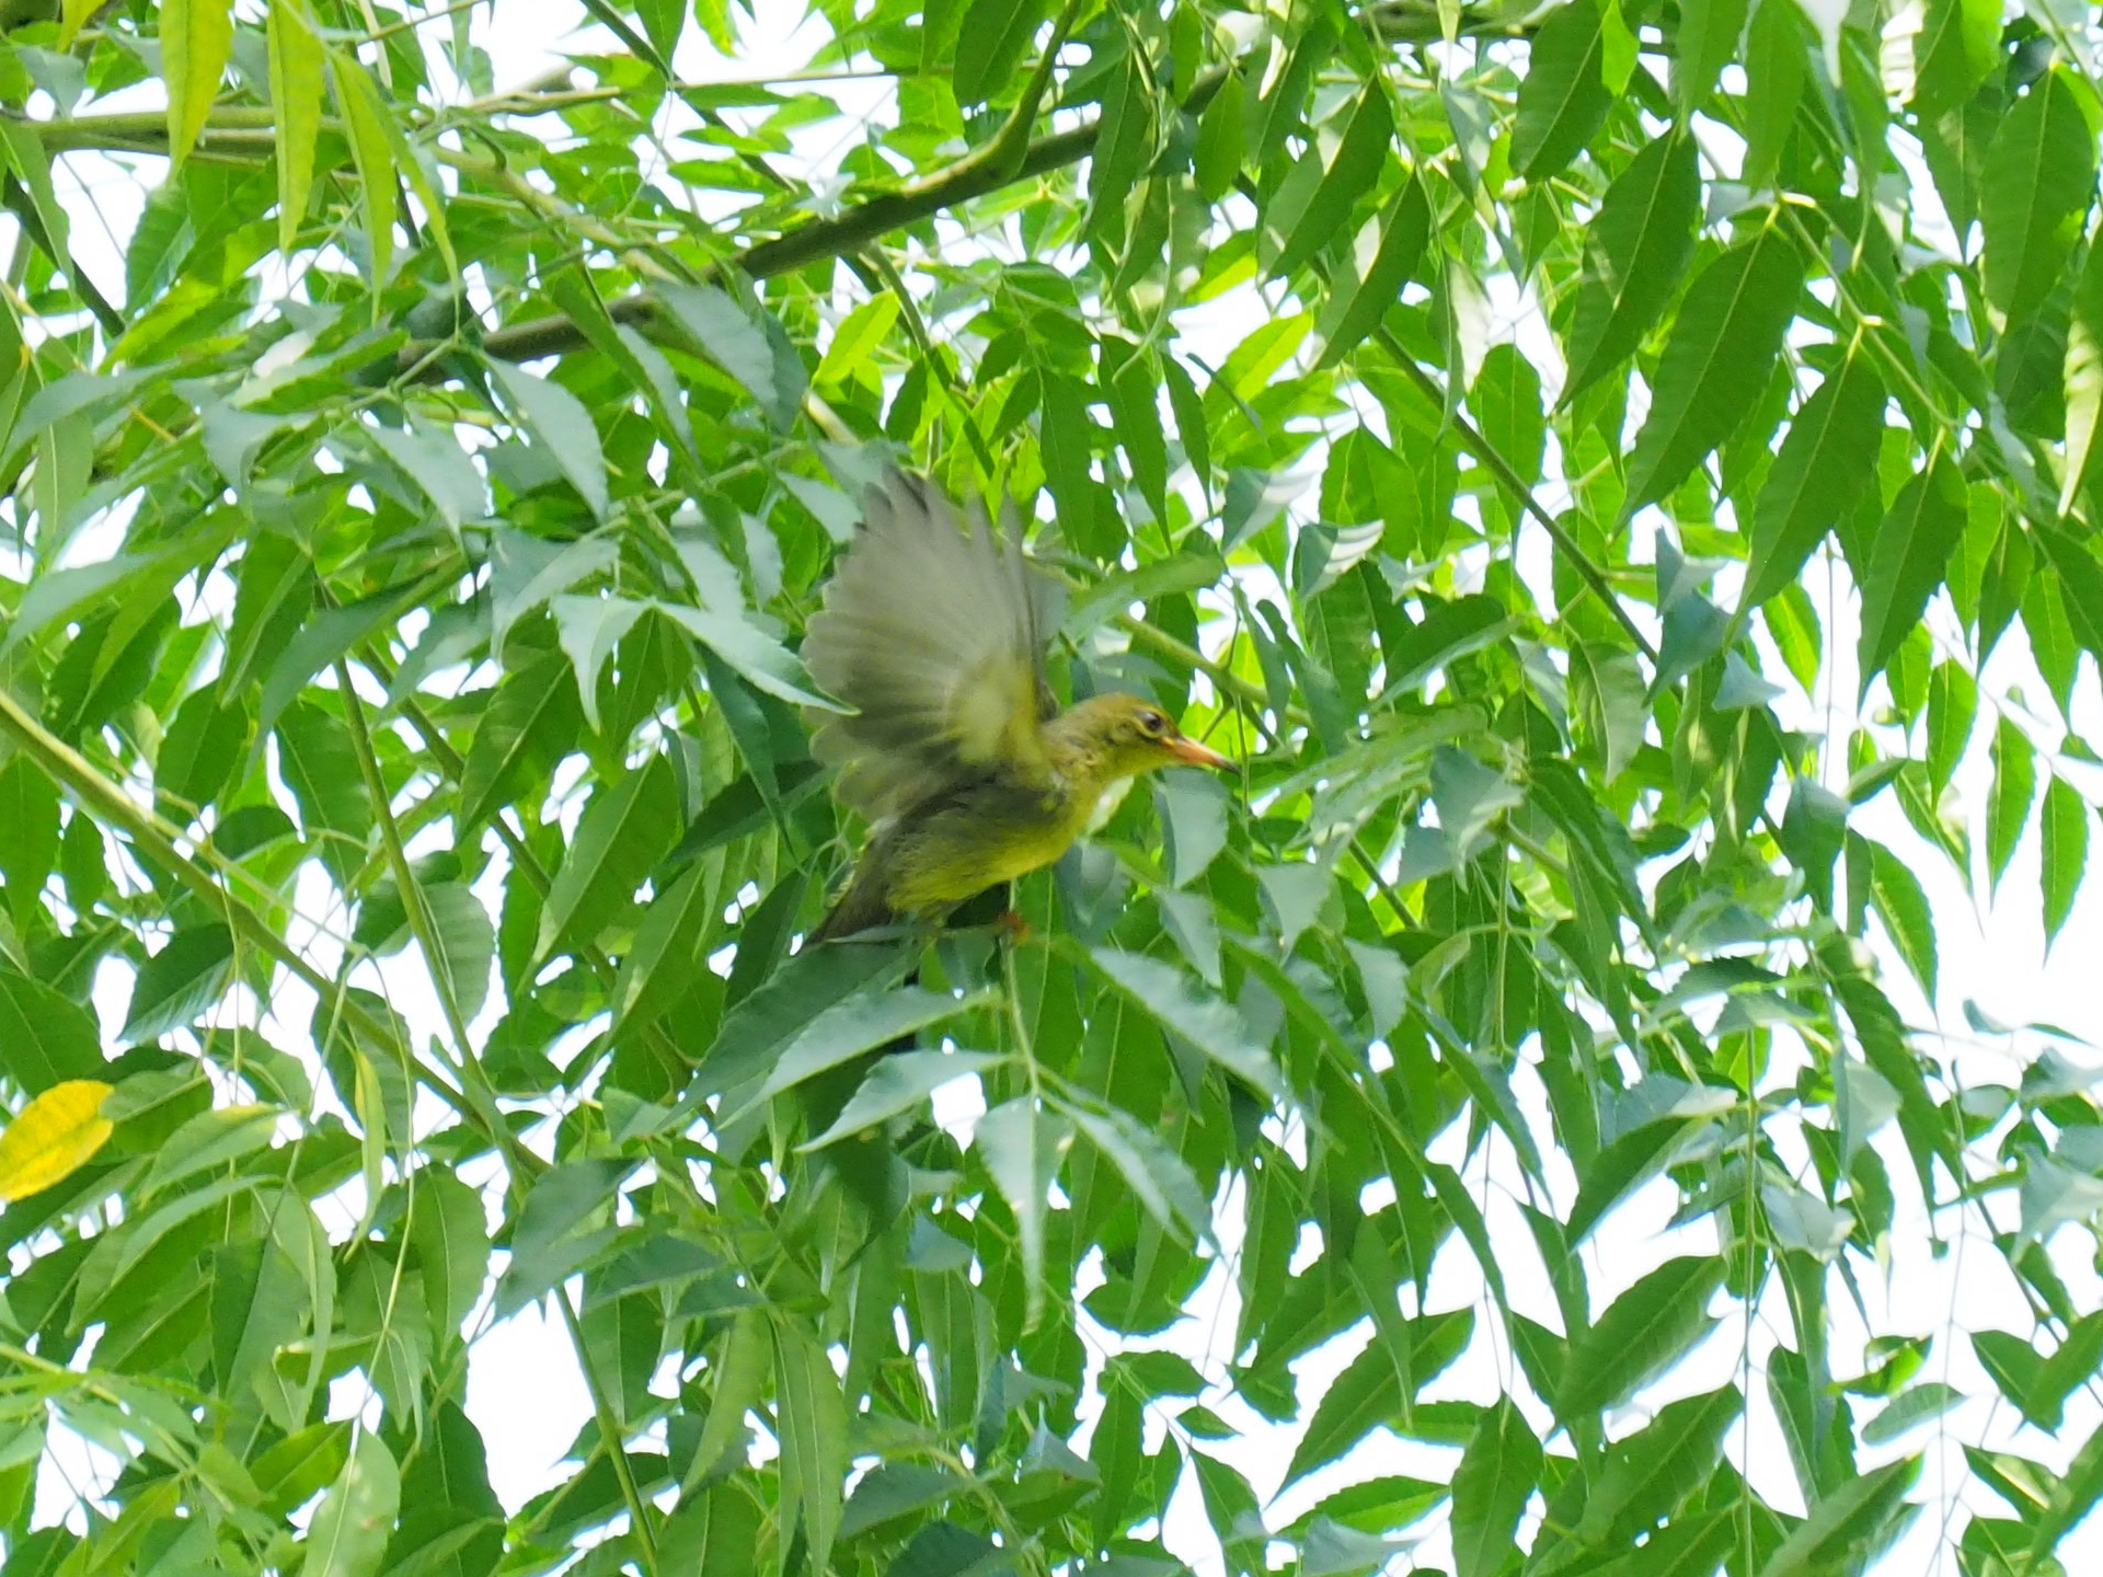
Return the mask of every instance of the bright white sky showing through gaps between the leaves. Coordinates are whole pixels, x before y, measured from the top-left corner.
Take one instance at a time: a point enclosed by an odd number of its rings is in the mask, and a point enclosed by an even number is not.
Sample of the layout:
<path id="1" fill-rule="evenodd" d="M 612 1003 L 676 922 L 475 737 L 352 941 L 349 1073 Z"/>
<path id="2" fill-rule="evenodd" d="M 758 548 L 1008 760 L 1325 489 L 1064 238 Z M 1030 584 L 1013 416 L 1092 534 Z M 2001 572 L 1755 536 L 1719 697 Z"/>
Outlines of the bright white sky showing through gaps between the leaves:
<path id="1" fill-rule="evenodd" d="M 726 63 L 715 59 L 700 44 L 694 29 L 690 29 L 679 57 L 681 74 L 688 78 L 742 78 L 753 76 L 755 69 L 799 67 L 816 44 L 818 34 L 814 29 L 820 23 L 808 23 L 805 32 L 797 34 L 793 32 L 795 17 L 791 6 L 761 4 L 757 11 L 761 13 L 761 21 L 753 23 L 734 8 L 749 40 L 749 48 L 738 61 Z M 540 76 L 557 63 L 557 50 L 566 46 L 587 50 L 599 46 L 597 42 L 574 42 L 578 34 L 572 27 L 580 23 L 583 11 L 570 0 L 536 0 L 534 4 L 511 0 L 501 6 L 501 13 L 503 27 L 498 29 L 486 25 L 486 13 L 477 11 L 475 15 L 477 36 L 490 48 L 496 63 L 494 76 L 498 86 Z M 604 40 L 604 34 L 599 38 Z M 854 143 L 854 116 L 885 114 L 890 97 L 890 84 L 881 80 L 837 84 L 837 90 L 850 118 L 818 126 L 799 143 L 799 153 L 820 166 L 835 160 L 843 147 Z M 156 93 L 139 88 L 126 95 L 122 105 L 103 103 L 97 107 L 149 107 L 154 103 L 158 103 Z M 111 160 L 101 156 L 72 156 L 65 160 L 61 189 L 67 191 L 76 214 L 76 254 L 97 282 L 101 282 L 103 290 L 116 299 L 122 296 L 118 288 L 122 282 L 122 242 L 137 219 L 145 187 L 158 179 L 160 164 L 156 160 Z M 1243 328 L 1264 311 L 1266 307 L 1253 290 L 1241 290 L 1203 309 L 1180 313 L 1178 328 L 1188 349 L 1197 351 L 1207 364 L 1218 366 Z M 1495 339 L 1514 339 L 1546 376 L 1556 376 L 1554 347 L 1531 299 L 1493 299 L 1491 332 Z M 1638 530 L 1638 534 L 1647 532 Z M 1546 580 L 1546 545 L 1531 528 L 1520 551 L 1520 566 L 1529 582 L 1541 585 Z M 1729 576 L 1722 591 L 1735 593 L 1735 582 Z M 1731 601 L 1731 597 L 1722 599 Z M 1825 690 L 1815 698 L 1792 690 L 1777 709 L 1783 713 L 1788 725 L 1825 732 L 1834 738 L 1836 749 L 1832 755 L 1840 757 L 1838 742 L 1846 738 L 1853 725 L 1849 702 L 1855 688 L 1853 675 L 1846 671 L 1853 652 L 1853 595 L 1844 585 L 1844 570 L 1836 568 L 1832 589 L 1819 601 L 1828 616 L 1825 650 L 1830 662 L 1828 673 L 1821 677 Z M 1931 627 L 1937 633 L 1939 650 L 1960 650 L 1956 622 L 1947 603 L 1937 603 Z M 1771 677 L 1781 673 L 1779 662 L 1771 662 L 1769 673 Z M 1981 685 L 1981 721 L 1975 730 L 1973 751 L 1958 778 L 1962 807 L 1971 818 L 1981 816 L 1992 782 L 1985 757 L 1985 742 L 1992 736 L 1994 721 L 1992 696 L 2010 690 L 2021 690 L 2034 700 L 2031 711 L 2021 713 L 2021 717 L 2040 744 L 2040 751 L 2057 742 L 2055 728 L 2040 721 L 2048 713 L 2046 690 L 2029 662 L 2021 633 L 2010 633 L 1987 667 L 1985 683 Z M 2103 694 L 2099 694 L 2090 662 L 2082 664 L 2076 717 L 2080 719 L 2080 732 L 2088 740 L 2103 740 Z M 1830 784 L 1840 786 L 1842 780 L 1844 772 L 1836 765 Z M 2095 797 L 2099 784 L 2103 784 L 2103 776 L 2099 774 L 2082 780 L 2090 797 Z M 1981 1043 L 1966 1028 L 1962 1011 L 1966 1001 L 1977 1003 L 1992 1020 L 2004 1024 L 2048 1020 L 2084 1035 L 2092 1043 L 2103 1043 L 2103 1007 L 2099 1007 L 2095 990 L 2095 961 L 2103 959 L 2103 896 L 2099 896 L 2103 885 L 2090 883 L 2082 892 L 2065 934 L 2046 953 L 2038 915 L 2038 839 L 2034 826 L 2025 835 L 2015 866 L 2000 885 L 1998 898 L 1987 900 L 1983 881 L 1979 883 L 1979 896 L 1968 896 L 1941 856 L 1926 849 L 1912 835 L 1888 793 L 1863 807 L 1853 824 L 1857 831 L 1899 849 L 1928 889 L 1941 927 L 1939 1001 L 1920 1001 L 1905 971 L 1888 959 L 1884 967 L 1886 988 L 1910 1022 L 1947 1037 L 1945 1049 L 1958 1056 L 1958 1066 L 1968 1083 L 2015 1083 L 2021 1066 L 2036 1056 L 2040 1041 L 2015 1035 L 2002 1043 Z M 2103 828 L 2092 831 L 2103 833 Z M 1983 843 L 1979 837 L 1975 841 Z M 2095 837 L 2092 841 L 2103 843 L 2103 837 Z M 2099 860 L 2103 860 L 2103 854 L 2099 854 Z M 326 883 L 313 881 L 303 885 L 301 908 L 305 915 L 322 919 L 324 927 L 328 902 Z M 341 921 L 343 917 L 334 919 Z M 326 946 L 326 938 L 315 938 L 315 942 Z M 410 1009 L 418 1028 L 429 1026 L 437 1030 L 437 1016 L 433 1011 L 423 1011 L 418 1018 L 416 1003 L 427 1007 L 429 992 L 410 957 L 389 963 L 385 971 L 387 988 L 400 1005 Z M 118 974 L 101 984 L 99 999 L 105 1024 L 114 1028 L 122 1020 L 126 982 Z M 290 992 L 288 997 L 299 995 Z M 273 1018 L 284 1026 L 292 1026 L 305 1022 L 305 1011 L 307 1005 L 303 1001 L 288 999 L 275 1005 Z M 1771 1083 L 1777 1083 L 1781 1077 L 1785 1077 L 1785 1070 L 1777 1068 L 1771 1074 Z M 1539 1081 L 1531 1070 L 1523 1068 L 1514 1085 L 1529 1114 L 1546 1131 L 1546 1100 Z M 959 1123 L 967 1123 L 974 1104 L 972 1093 L 953 1089 L 942 1102 L 942 1114 L 946 1121 L 957 1119 Z M 1949 1497 L 1960 1497 L 1966 1508 L 1989 1516 L 2006 1514 L 2006 1508 L 1977 1484 L 1960 1493 L 1966 1476 L 1960 1445 L 1983 1442 L 1996 1449 L 2013 1449 L 2055 1468 L 2065 1463 L 2069 1447 L 2029 1430 L 2013 1415 L 2013 1409 L 1998 1402 L 1998 1392 L 1973 1358 L 1968 1342 L 1960 1335 L 1964 1329 L 1985 1327 L 2025 1335 L 2029 1331 L 2023 1304 L 2015 1295 L 1998 1253 L 1981 1236 L 1979 1215 L 1973 1213 L 1962 1230 L 1958 1230 L 1956 1217 L 1947 1215 L 1943 1230 L 1954 1238 L 1956 1247 L 1947 1257 L 1935 1259 L 1926 1247 L 1924 1213 L 1912 1184 L 1912 1167 L 1905 1163 L 1903 1150 L 1888 1129 L 1880 1140 L 1880 1150 L 1886 1156 L 1893 1184 L 1899 1192 L 1899 1226 L 1886 1247 L 1888 1264 L 1882 1276 L 1857 1264 L 1857 1278 L 1870 1312 L 1867 1327 L 1855 1320 L 1838 1278 L 1832 1281 L 1830 1297 L 1836 1323 L 1834 1371 L 1840 1377 L 1853 1373 L 1859 1342 L 1867 1333 L 1935 1335 L 1928 1365 L 1920 1377 L 1947 1379 L 1964 1390 L 1971 1400 L 1937 1424 L 1914 1430 L 1882 1451 L 1865 1451 L 1863 1457 L 1867 1463 L 1874 1463 L 1903 1451 L 1926 1449 L 1926 1474 L 1916 1491 L 1916 1499 L 1928 1501 L 1928 1508 L 1916 1520 L 1912 1533 L 1878 1562 L 1876 1571 L 1954 1573 L 1956 1558 L 1945 1533 L 1954 1531 L 1962 1514 L 1956 1522 L 1949 1520 Z M 1459 1129 L 1443 1138 L 1434 1148 L 1434 1156 L 1462 1163 Z M 1575 1182 L 1567 1165 L 1560 1163 L 1560 1156 L 1550 1154 L 1550 1171 L 1556 1196 L 1563 1209 L 1567 1209 L 1575 1194 Z M 1516 1199 L 1525 1196 L 1525 1188 L 1502 1140 L 1493 1140 L 1476 1156 L 1476 1163 L 1468 1167 L 1468 1177 L 1481 1188 L 1481 1199 L 1485 1201 L 1497 1241 L 1512 1245 L 1510 1257 L 1504 1259 L 1504 1274 L 1514 1306 L 1535 1318 L 1558 1325 L 1554 1302 L 1531 1249 L 1531 1238 L 1514 1205 Z M 1674 1207 L 1674 1188 L 1668 1182 L 1653 1182 L 1594 1236 L 1586 1249 L 1594 1308 L 1605 1308 L 1615 1293 L 1674 1253 L 1714 1249 L 1714 1232 L 1708 1224 L 1668 1230 L 1666 1224 Z M 1994 1209 L 1996 1220 L 2004 1228 L 2013 1228 L 2013 1194 L 1992 1196 L 1989 1209 Z M 1239 1201 L 1230 1199 L 1222 1213 L 1222 1232 L 1230 1245 L 1237 1236 L 1237 1217 Z M 2099 1297 L 2099 1283 L 2084 1245 L 2086 1241 L 2080 1232 L 2061 1232 L 2053 1245 L 2055 1262 L 2082 1306 L 2097 1308 L 2103 1304 L 2103 1297 Z M 1411 1297 L 1413 1293 L 1405 1295 L 1405 1302 Z M 1192 1318 L 1178 1325 L 1159 1342 L 1136 1346 L 1171 1346 L 1197 1360 L 1207 1377 L 1224 1379 L 1226 1360 L 1232 1356 L 1224 1348 L 1234 1327 L 1234 1302 L 1232 1278 L 1224 1268 L 1216 1268 L 1192 1299 Z M 1468 1304 L 1476 1306 L 1481 1316 L 1476 1320 L 1476 1342 L 1426 1392 L 1426 1398 L 1468 1396 L 1491 1400 L 1502 1384 L 1512 1379 L 1514 1365 L 1502 1346 L 1502 1333 L 1487 1302 L 1481 1274 L 1468 1249 L 1455 1236 L 1436 1262 L 1426 1308 L 1445 1310 Z M 1779 1302 L 1779 1293 L 1771 1295 L 1754 1310 L 1750 1339 L 1754 1363 L 1758 1365 L 1777 1335 L 1785 1337 L 1788 1331 L 1785 1306 Z M 1094 1335 L 1102 1350 L 1115 1350 L 1117 1344 L 1112 1337 L 1100 1331 Z M 1321 1396 L 1329 1377 L 1367 1339 L 1369 1331 L 1361 1325 L 1298 1365 L 1300 1394 L 1306 1409 Z M 1659 1386 L 1628 1409 L 1626 1428 L 1634 1428 L 1657 1405 L 1674 1396 L 1708 1390 L 1727 1379 L 1743 1384 L 1745 1377 L 1739 1375 L 1739 1358 L 1745 1339 L 1743 1320 L 1737 1316 L 1727 1318 L 1718 1335 L 1703 1350 L 1674 1369 Z M 1788 1457 L 1771 1426 L 1771 1413 L 1764 1407 L 1764 1386 L 1758 1373 L 1750 1377 L 1748 1390 L 1754 1396 L 1750 1424 L 1733 1432 L 1731 1455 L 1741 1466 L 1750 1463 L 1752 1480 L 1775 1506 L 1802 1510 Z M 1209 1442 L 1205 1449 L 1239 1466 L 1260 1495 L 1270 1495 L 1283 1476 L 1298 1428 L 1264 1424 L 1224 1390 L 1203 1400 L 1230 1424 L 1245 1428 L 1241 1438 Z M 343 1409 L 355 1409 L 360 1405 L 358 1388 L 339 1388 L 336 1402 L 339 1415 Z M 543 1320 L 540 1310 L 526 1310 L 490 1329 L 473 1350 L 467 1409 L 482 1428 L 490 1453 L 490 1478 L 505 1506 L 517 1508 L 532 1493 L 557 1482 L 562 1476 L 559 1457 L 591 1415 L 589 1398 L 576 1377 L 570 1346 L 559 1325 Z M 1861 1411 L 1867 1415 L 1870 1409 L 1863 1407 Z M 2078 1442 L 2099 1419 L 2103 1419 L 2103 1409 L 2097 1407 L 2095 1388 L 2090 1386 L 2090 1392 L 2078 1396 L 2069 1407 L 2065 1438 Z M 1546 1424 L 1541 1417 L 1533 1421 L 1537 1428 Z M 63 1514 L 69 1501 L 67 1478 L 86 1482 L 97 1468 L 97 1453 L 93 1449 L 74 1449 L 65 1442 L 55 1449 L 61 1457 L 59 1468 L 63 1476 L 46 1474 L 46 1480 L 40 1484 L 42 1518 Z M 1451 1476 L 1453 1459 L 1453 1451 L 1403 1442 L 1386 1432 L 1375 1432 L 1342 1463 L 1310 1476 L 1291 1493 L 1279 1497 L 1268 1510 L 1268 1520 L 1272 1527 L 1283 1527 L 1321 1499 L 1321 1495 L 1361 1478 L 1403 1472 L 1443 1480 Z M 1218 1548 L 1207 1533 L 1197 1487 L 1188 1474 L 1163 1533 L 1167 1543 L 1190 1560 L 1199 1573 L 1211 1577 L 1220 1571 Z M 1394 1560 L 1394 1571 L 1409 1571 L 1413 1558 L 1428 1564 L 1449 1562 L 1443 1514 L 1428 1520 L 1420 1533 L 1428 1535 L 1426 1541 L 1413 1554 L 1401 1554 Z M 2076 1533 L 2061 1548 L 2061 1554 L 2069 1571 L 2082 1571 L 2103 1556 L 2103 1533 L 2090 1524 Z"/>

